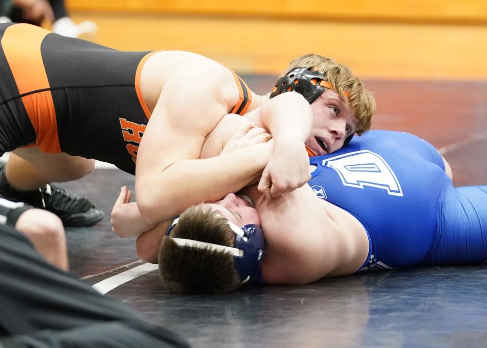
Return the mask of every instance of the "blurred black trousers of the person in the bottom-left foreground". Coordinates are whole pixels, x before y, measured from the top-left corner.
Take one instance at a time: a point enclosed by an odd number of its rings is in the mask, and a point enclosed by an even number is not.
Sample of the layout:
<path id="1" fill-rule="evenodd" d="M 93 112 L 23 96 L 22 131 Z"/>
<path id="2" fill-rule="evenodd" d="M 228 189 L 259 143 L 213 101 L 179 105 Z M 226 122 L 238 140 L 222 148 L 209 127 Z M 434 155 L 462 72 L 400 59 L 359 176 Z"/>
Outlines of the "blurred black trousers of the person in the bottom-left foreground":
<path id="1" fill-rule="evenodd" d="M 0 347 L 187 347 L 180 336 L 49 264 L 0 225 Z"/>

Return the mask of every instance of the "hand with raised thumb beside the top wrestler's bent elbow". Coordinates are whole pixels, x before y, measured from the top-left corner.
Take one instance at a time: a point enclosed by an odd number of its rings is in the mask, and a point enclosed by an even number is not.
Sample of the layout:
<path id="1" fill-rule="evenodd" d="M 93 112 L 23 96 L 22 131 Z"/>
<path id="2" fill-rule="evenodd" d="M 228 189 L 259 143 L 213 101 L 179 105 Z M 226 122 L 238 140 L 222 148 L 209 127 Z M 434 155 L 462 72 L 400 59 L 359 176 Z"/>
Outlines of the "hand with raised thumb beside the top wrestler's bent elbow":
<path id="1" fill-rule="evenodd" d="M 127 187 L 122 187 L 120 195 L 112 209 L 112 231 L 119 237 L 126 238 L 140 234 L 154 228 L 155 225 L 148 224 L 138 211 L 137 203 L 130 203 L 132 192 Z"/>

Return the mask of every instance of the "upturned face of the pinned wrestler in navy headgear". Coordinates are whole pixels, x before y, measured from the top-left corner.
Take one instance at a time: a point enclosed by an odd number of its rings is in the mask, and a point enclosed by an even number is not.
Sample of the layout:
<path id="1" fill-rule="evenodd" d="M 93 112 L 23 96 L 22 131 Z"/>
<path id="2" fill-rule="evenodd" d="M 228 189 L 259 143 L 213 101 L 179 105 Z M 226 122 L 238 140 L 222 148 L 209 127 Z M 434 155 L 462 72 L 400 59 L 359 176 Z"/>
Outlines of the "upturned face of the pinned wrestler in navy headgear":
<path id="1" fill-rule="evenodd" d="M 238 227 L 248 224 L 260 225 L 259 214 L 245 199 L 229 193 L 222 200 L 207 203 L 212 209 L 219 211 L 228 221 Z"/>

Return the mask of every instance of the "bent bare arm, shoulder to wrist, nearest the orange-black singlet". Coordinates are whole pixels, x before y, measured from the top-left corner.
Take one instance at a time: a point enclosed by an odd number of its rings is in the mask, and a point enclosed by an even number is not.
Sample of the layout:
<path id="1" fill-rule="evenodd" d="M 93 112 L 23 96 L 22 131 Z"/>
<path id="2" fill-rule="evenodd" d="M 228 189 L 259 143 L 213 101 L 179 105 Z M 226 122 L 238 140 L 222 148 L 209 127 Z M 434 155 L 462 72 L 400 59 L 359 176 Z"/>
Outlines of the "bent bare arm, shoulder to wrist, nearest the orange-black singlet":
<path id="1" fill-rule="evenodd" d="M 181 67 L 166 79 L 137 154 L 137 204 L 149 224 L 237 191 L 264 168 L 246 150 L 240 160 L 198 159 L 205 136 L 237 100 L 233 75 L 216 62 Z"/>

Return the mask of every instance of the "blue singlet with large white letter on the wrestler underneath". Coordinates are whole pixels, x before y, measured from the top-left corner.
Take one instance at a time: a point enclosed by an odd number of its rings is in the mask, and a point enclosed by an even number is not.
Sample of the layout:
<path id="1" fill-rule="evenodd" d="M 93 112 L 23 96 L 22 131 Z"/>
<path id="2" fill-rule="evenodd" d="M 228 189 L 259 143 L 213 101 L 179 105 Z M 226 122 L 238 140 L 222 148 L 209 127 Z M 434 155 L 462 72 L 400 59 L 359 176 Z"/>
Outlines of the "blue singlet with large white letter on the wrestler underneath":
<path id="1" fill-rule="evenodd" d="M 310 164 L 317 197 L 365 227 L 370 251 L 361 270 L 487 259 L 487 186 L 455 188 L 421 138 L 372 130 Z"/>

